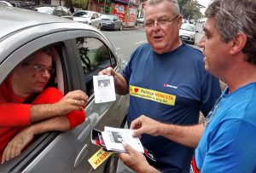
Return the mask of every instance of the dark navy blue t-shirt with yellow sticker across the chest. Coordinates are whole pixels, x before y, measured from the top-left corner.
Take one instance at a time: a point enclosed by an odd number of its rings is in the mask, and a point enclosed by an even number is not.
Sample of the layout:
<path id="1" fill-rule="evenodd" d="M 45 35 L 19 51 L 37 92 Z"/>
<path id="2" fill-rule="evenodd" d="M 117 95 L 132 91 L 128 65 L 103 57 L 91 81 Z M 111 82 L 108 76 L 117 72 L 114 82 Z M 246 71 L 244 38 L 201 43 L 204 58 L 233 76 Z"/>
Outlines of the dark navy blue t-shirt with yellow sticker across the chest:
<path id="1" fill-rule="evenodd" d="M 197 124 L 200 110 L 207 115 L 220 95 L 217 78 L 204 68 L 201 51 L 183 43 L 157 55 L 148 43 L 133 52 L 123 71 L 130 87 L 127 121 L 142 114 L 167 124 Z M 143 147 L 154 153 L 155 167 L 189 171 L 194 150 L 162 136 L 142 137 Z"/>

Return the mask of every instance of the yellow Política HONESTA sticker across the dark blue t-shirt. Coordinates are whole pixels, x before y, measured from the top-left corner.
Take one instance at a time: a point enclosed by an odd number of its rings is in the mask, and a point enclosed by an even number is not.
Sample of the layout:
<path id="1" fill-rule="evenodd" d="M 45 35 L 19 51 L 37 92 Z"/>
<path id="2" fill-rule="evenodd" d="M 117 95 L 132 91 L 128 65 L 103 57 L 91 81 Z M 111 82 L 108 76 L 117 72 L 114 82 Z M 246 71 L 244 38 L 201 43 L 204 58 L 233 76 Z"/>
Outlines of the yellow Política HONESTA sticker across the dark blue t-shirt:
<path id="1" fill-rule="evenodd" d="M 130 85 L 130 95 L 172 106 L 175 105 L 176 99 L 176 95 L 169 95 L 156 90 L 144 89 L 132 85 Z"/>

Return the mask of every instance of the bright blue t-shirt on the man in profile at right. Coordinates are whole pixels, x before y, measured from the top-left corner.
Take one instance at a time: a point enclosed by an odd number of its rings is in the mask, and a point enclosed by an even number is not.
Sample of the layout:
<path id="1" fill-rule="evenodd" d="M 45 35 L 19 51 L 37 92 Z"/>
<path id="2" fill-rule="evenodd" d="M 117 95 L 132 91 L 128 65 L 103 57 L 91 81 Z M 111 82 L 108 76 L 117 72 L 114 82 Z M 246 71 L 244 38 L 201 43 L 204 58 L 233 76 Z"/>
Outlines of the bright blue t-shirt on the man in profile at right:
<path id="1" fill-rule="evenodd" d="M 256 171 L 256 83 L 228 94 L 207 117 L 209 123 L 195 150 L 201 172 Z"/>

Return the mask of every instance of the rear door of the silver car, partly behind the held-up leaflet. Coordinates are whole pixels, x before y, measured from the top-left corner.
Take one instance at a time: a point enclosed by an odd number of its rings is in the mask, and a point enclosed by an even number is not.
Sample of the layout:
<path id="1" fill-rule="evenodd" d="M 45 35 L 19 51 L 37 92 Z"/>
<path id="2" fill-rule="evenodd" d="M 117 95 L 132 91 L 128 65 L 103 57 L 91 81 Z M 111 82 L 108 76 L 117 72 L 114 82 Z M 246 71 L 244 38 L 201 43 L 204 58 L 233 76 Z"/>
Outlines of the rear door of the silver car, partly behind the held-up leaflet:
<path id="1" fill-rule="evenodd" d="M 100 39 L 100 37 L 92 33 L 84 36 L 82 32 L 76 32 L 74 37 L 76 39 L 75 43 L 73 43 L 73 49 L 77 52 L 76 55 L 79 55 L 81 60 L 80 66 L 83 68 L 86 92 L 90 98 L 94 98 L 92 77 L 108 66 L 112 66 L 118 71 L 120 69 L 116 58 L 113 56 L 113 52 L 108 49 L 107 43 Z M 86 114 L 87 118 L 90 119 L 91 127 L 97 130 L 103 130 L 105 125 L 112 127 L 124 125 L 126 108 L 128 107 L 128 96 L 116 95 L 116 98 L 116 101 L 111 103 L 96 104 L 94 101 L 90 102 L 90 109 L 86 109 Z M 125 109 L 124 105 L 127 106 Z M 97 146 L 92 146 L 89 155 L 93 155 L 99 149 Z M 105 172 L 105 164 L 102 164 L 96 172 Z M 80 164 L 76 171 L 80 172 L 79 170 L 83 170 L 83 167 L 84 165 Z"/>

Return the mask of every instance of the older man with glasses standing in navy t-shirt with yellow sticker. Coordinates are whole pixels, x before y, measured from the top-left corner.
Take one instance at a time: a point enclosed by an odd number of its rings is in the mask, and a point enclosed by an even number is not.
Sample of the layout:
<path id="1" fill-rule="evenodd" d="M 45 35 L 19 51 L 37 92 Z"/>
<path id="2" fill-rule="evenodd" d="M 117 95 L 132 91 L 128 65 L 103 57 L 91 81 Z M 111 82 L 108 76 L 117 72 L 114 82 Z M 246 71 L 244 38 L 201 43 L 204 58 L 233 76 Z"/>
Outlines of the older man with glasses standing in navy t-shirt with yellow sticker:
<path id="1" fill-rule="evenodd" d="M 166 124 L 198 124 L 200 111 L 207 116 L 220 95 L 218 79 L 206 72 L 201 51 L 180 40 L 176 0 L 149 0 L 144 19 L 148 43 L 133 52 L 122 74 L 112 68 L 100 74 L 113 75 L 118 94 L 130 93 L 129 127 L 142 114 Z M 154 154 L 156 161 L 148 162 L 155 168 L 189 172 L 193 148 L 162 136 L 143 135 L 141 141 Z"/>

